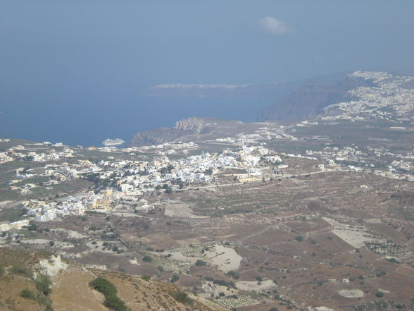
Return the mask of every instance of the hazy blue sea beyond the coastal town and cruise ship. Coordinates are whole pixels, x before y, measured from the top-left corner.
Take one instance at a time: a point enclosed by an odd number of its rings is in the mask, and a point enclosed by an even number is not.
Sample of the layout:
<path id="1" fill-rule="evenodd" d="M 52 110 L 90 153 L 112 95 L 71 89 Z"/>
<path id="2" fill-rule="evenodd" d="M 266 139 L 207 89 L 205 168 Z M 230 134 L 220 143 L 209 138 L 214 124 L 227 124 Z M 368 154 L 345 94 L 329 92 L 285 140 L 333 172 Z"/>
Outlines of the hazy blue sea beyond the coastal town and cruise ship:
<path id="1" fill-rule="evenodd" d="M 0 138 L 63 142 L 65 145 L 101 146 L 106 138 L 132 136 L 149 128 L 172 127 L 190 116 L 256 121 L 270 99 L 102 96 L 88 98 L 54 94 L 27 102 L 13 100 L 0 105 Z"/>

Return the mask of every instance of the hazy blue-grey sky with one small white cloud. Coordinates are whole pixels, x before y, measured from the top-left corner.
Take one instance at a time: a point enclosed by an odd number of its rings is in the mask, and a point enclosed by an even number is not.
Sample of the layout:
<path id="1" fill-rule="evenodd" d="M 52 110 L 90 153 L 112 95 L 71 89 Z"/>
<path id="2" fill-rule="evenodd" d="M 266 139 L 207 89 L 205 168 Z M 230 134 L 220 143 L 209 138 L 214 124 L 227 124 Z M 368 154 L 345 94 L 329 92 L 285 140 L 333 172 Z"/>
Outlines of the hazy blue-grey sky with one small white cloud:
<path id="1" fill-rule="evenodd" d="M 413 72 L 413 16 L 412 0 L 0 0 L 0 111 L 116 104 L 159 83 Z"/>

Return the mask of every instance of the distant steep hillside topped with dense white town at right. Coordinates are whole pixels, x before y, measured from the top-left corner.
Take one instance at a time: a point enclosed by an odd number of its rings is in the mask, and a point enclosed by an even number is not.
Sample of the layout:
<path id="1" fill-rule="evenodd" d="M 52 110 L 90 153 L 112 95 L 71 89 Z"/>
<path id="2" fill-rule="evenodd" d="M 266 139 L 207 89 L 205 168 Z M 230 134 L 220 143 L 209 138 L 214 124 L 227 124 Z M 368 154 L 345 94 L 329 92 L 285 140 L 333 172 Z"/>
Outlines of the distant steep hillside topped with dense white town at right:
<path id="1" fill-rule="evenodd" d="M 262 120 L 302 121 L 320 116 L 387 118 L 413 110 L 413 77 L 356 71 L 340 79 L 309 80 L 261 112 Z"/>

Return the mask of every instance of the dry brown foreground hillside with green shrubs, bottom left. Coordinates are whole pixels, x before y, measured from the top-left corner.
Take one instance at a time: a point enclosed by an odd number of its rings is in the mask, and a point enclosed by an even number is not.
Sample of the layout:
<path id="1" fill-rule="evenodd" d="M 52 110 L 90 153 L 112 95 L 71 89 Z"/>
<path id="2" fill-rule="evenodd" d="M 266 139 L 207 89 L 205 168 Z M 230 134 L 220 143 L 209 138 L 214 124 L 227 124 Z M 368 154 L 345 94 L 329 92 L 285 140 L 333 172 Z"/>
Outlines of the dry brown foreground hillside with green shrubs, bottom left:
<path id="1" fill-rule="evenodd" d="M 90 282 L 99 277 L 115 286 L 118 298 L 108 299 L 92 288 Z M 108 311 L 110 303 L 118 311 L 227 310 L 169 283 L 87 269 L 51 254 L 0 248 L 0 310 Z"/>

